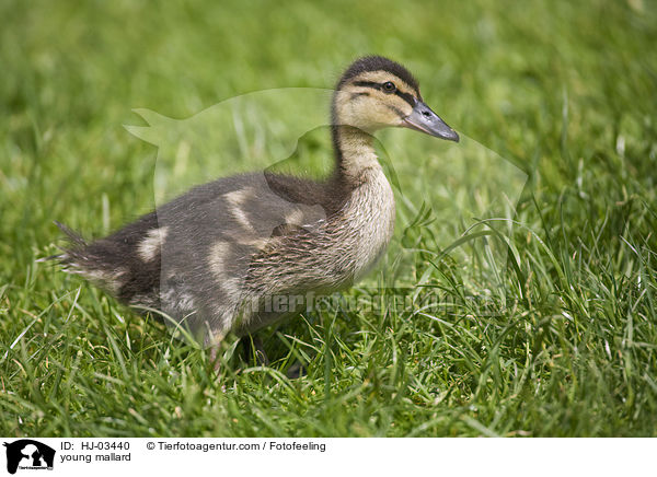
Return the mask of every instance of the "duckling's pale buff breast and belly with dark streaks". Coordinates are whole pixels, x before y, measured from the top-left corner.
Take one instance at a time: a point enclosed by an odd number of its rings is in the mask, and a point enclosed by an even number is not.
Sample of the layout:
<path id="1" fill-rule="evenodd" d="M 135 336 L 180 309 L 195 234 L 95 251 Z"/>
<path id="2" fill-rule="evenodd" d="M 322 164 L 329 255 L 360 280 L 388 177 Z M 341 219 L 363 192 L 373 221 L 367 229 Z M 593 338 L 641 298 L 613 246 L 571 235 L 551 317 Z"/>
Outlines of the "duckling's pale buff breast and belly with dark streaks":
<path id="1" fill-rule="evenodd" d="M 256 293 L 330 293 L 362 278 L 383 255 L 394 230 L 394 196 L 380 167 L 364 173 L 344 206 L 252 258 Z"/>

